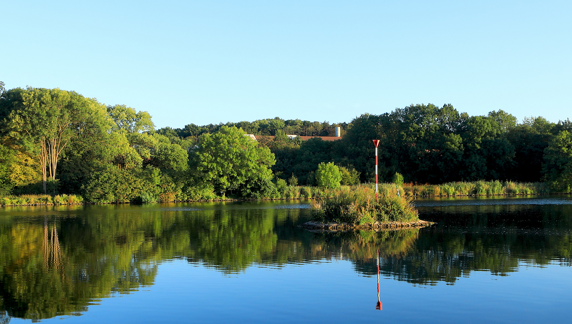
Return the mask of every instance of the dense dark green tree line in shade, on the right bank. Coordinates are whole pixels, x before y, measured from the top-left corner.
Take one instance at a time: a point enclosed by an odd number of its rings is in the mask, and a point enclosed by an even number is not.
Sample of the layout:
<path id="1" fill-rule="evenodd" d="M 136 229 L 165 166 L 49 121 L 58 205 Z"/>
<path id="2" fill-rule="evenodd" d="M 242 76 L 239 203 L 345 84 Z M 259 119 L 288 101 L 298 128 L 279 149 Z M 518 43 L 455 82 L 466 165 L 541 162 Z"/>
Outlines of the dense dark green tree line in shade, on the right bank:
<path id="1" fill-rule="evenodd" d="M 319 138 L 299 146 L 275 145 L 275 173 L 294 174 L 312 184 L 320 162 L 335 162 L 374 179 L 374 146 L 380 139 L 381 181 L 395 173 L 405 182 L 513 180 L 550 181 L 555 190 L 570 191 L 572 141 L 569 119 L 551 123 L 542 117 L 522 123 L 505 111 L 487 116 L 459 113 L 451 105 L 411 105 L 381 115 L 363 114 L 346 127 L 343 139 Z"/>

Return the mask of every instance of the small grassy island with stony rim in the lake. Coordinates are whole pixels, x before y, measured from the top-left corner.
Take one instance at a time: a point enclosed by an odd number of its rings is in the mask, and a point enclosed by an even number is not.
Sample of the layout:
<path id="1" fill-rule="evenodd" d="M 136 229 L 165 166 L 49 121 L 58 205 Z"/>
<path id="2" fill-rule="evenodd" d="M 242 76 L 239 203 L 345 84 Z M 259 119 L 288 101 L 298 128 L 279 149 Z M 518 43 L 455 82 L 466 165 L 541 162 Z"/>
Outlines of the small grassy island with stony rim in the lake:
<path id="1" fill-rule="evenodd" d="M 312 220 L 300 227 L 308 230 L 377 230 L 433 225 L 419 219 L 411 199 L 402 197 L 396 187 L 382 186 L 376 199 L 369 186 L 346 187 L 311 202 Z"/>

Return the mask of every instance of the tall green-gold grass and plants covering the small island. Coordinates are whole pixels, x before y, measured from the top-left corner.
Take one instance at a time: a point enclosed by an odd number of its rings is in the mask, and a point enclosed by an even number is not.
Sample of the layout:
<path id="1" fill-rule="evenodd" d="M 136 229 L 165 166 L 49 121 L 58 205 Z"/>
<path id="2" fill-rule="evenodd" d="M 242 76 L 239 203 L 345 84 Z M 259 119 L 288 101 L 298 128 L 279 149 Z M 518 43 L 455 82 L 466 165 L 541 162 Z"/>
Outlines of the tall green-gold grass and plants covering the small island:
<path id="1" fill-rule="evenodd" d="M 330 193 L 329 197 L 317 197 L 311 203 L 312 218 L 319 222 L 353 225 L 419 220 L 418 211 L 408 198 L 391 193 L 390 186 L 384 189 L 378 199 L 375 190 L 368 185 L 343 187 Z"/>

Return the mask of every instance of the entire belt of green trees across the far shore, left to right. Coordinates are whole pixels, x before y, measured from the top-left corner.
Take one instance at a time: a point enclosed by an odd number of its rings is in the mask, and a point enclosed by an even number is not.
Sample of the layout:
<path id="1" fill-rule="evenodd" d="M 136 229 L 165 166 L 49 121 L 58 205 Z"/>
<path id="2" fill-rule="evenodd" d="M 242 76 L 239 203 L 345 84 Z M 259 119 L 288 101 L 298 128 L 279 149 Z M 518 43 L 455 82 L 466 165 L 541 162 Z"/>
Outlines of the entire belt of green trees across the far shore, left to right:
<path id="1" fill-rule="evenodd" d="M 379 178 L 405 182 L 548 181 L 570 191 L 572 123 L 522 123 L 503 110 L 486 116 L 452 105 L 410 105 L 349 123 L 260 119 L 155 129 L 146 111 L 106 106 L 74 91 L 0 84 L 0 193 L 82 194 L 92 202 L 185 201 L 227 195 L 272 197 L 285 182 L 315 185 L 321 162 L 345 184 L 374 179 L 372 139 L 380 139 Z M 324 141 L 301 136 L 333 136 Z M 259 142 L 245 134 L 272 135 Z M 344 183 L 343 183 L 344 184 Z"/>

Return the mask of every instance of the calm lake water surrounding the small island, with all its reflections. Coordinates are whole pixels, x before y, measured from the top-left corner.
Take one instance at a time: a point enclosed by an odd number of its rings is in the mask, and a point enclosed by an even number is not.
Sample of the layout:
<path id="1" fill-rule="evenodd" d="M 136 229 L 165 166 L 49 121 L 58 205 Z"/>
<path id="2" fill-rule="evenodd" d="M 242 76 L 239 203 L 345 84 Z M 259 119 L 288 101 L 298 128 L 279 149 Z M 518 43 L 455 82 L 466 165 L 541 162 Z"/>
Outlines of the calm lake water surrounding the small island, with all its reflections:
<path id="1" fill-rule="evenodd" d="M 437 225 L 311 233 L 308 201 L 3 207 L 0 324 L 572 322 L 570 195 L 416 206 Z"/>

